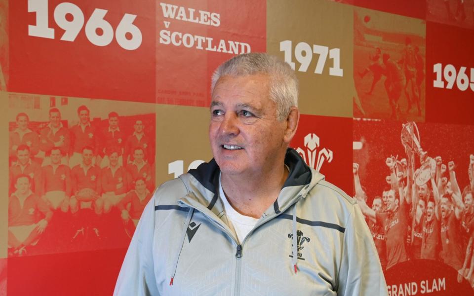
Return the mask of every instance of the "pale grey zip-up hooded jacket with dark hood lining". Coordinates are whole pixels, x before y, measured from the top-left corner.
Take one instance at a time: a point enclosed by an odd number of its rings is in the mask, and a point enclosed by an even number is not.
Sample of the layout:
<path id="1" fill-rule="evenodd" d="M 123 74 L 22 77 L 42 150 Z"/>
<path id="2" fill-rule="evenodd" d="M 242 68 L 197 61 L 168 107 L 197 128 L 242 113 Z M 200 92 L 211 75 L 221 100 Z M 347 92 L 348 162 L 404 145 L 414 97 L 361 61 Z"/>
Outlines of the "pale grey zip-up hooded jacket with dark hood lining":
<path id="1" fill-rule="evenodd" d="M 278 198 L 241 244 L 227 225 L 214 160 L 161 185 L 114 295 L 387 295 L 356 202 L 295 150 L 285 164 Z"/>

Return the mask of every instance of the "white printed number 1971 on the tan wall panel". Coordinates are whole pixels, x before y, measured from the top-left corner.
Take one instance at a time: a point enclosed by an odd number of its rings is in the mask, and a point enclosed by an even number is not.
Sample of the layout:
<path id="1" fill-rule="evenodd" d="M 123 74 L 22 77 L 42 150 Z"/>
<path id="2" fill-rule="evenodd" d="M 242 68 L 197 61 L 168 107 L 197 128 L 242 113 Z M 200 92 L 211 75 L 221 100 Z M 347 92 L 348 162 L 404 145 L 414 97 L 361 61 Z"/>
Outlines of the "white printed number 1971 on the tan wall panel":
<path id="1" fill-rule="evenodd" d="M 291 69 L 295 70 L 295 63 L 292 59 L 292 42 L 291 40 L 284 40 L 280 42 L 280 51 L 285 54 L 285 62 L 291 66 Z M 343 76 L 343 69 L 340 68 L 340 49 L 331 48 L 322 45 L 313 44 L 311 45 L 306 42 L 300 42 L 295 46 L 295 58 L 301 64 L 298 68 L 300 72 L 306 72 L 313 60 L 313 53 L 318 55 L 316 62 L 316 74 L 322 74 L 324 65 L 326 64 L 327 54 L 329 53 L 329 59 L 333 60 L 332 66 L 329 68 L 329 75 L 331 76 Z"/>

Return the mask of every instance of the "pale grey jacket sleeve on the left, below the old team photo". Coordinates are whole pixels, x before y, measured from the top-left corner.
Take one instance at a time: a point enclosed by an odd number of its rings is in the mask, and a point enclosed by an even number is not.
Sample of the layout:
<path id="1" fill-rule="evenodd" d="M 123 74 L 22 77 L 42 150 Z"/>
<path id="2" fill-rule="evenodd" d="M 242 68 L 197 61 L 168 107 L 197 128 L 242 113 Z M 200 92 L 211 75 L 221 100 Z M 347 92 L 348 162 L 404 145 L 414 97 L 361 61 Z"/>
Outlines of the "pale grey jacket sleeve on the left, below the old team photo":
<path id="1" fill-rule="evenodd" d="M 153 262 L 155 198 L 148 202 L 138 222 L 118 274 L 114 296 L 159 295 Z"/>

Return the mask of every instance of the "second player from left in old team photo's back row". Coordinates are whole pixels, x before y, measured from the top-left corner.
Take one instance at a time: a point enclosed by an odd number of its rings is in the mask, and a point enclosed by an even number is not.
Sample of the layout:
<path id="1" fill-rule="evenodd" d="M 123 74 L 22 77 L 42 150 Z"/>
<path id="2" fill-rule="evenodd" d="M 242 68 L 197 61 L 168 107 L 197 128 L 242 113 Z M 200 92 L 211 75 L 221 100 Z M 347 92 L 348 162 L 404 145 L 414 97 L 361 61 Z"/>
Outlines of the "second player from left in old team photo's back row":
<path id="1" fill-rule="evenodd" d="M 52 148 L 61 149 L 61 163 L 68 165 L 70 144 L 71 139 L 69 136 L 69 130 L 65 128 L 61 122 L 61 112 L 57 108 L 51 108 L 51 110 L 49 110 L 49 123 L 40 132 L 41 151 L 48 154 Z M 43 160 L 42 166 L 50 163 L 51 159 L 46 156 Z"/>

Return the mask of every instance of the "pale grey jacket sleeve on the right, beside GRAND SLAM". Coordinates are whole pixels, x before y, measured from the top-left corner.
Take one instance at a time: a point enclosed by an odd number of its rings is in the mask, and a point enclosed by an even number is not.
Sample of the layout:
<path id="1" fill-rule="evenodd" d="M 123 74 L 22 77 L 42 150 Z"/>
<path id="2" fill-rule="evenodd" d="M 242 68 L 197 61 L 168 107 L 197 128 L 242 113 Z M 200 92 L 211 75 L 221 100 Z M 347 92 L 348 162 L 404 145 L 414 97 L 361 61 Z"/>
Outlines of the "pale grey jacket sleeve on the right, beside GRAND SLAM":
<path id="1" fill-rule="evenodd" d="M 346 225 L 337 295 L 388 295 L 380 259 L 358 205 L 353 206 Z"/>

